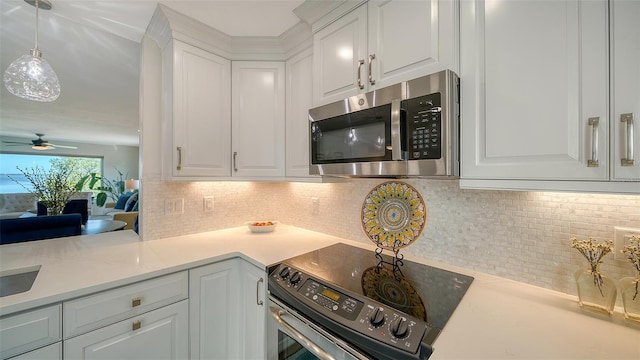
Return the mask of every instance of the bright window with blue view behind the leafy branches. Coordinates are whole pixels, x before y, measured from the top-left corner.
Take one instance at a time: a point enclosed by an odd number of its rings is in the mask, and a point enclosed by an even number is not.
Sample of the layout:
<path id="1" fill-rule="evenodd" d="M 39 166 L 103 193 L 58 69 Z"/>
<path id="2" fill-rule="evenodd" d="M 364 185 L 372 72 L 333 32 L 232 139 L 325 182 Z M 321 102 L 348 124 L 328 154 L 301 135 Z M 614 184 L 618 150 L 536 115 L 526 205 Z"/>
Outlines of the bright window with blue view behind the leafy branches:
<path id="1" fill-rule="evenodd" d="M 32 167 L 40 167 L 45 171 L 58 162 L 70 162 L 77 171 L 77 182 L 84 175 L 95 172 L 102 175 L 101 157 L 80 157 L 80 156 L 50 156 L 33 154 L 0 153 L 0 193 L 25 193 L 31 189 L 31 183 L 18 170 Z"/>

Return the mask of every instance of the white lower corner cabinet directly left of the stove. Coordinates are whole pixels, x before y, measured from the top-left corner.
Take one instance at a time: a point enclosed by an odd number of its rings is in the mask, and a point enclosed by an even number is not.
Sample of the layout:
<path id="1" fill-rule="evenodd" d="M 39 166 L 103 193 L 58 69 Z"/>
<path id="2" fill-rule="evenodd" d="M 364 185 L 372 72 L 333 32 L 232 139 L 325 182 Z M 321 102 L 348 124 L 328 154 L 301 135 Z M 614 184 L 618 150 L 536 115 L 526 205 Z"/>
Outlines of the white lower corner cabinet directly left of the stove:
<path id="1" fill-rule="evenodd" d="M 265 358 L 265 279 L 242 259 L 189 271 L 191 359 Z"/>

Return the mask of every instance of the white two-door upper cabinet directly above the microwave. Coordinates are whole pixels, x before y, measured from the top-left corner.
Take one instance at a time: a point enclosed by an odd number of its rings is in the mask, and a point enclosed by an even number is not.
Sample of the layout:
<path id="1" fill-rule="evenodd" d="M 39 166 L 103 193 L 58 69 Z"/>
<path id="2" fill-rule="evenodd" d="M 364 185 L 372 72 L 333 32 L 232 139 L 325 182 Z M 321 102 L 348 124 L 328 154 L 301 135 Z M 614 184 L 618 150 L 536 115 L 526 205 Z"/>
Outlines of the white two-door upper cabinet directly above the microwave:
<path id="1" fill-rule="evenodd" d="M 369 1 L 313 38 L 314 106 L 443 69 L 458 71 L 456 1 Z M 335 21 L 334 21 L 335 20 Z"/>

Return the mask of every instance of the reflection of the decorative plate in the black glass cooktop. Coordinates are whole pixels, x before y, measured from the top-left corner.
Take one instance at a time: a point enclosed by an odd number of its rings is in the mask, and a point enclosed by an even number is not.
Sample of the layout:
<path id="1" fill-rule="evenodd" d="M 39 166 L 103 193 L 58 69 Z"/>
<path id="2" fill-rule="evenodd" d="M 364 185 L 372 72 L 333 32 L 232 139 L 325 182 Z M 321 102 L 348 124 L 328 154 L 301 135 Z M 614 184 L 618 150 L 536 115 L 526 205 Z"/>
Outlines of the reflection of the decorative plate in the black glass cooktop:
<path id="1" fill-rule="evenodd" d="M 420 294 L 399 271 L 372 266 L 362 273 L 362 291 L 370 299 L 427 321 L 427 309 Z"/>

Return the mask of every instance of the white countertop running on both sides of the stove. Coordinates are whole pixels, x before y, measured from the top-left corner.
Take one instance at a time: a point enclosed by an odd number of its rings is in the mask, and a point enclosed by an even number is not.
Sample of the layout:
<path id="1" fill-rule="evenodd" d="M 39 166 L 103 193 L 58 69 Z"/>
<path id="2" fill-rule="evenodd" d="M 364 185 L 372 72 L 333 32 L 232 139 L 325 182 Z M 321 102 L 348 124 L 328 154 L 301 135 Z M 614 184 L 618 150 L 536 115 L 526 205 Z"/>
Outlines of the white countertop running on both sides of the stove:
<path id="1" fill-rule="evenodd" d="M 132 231 L 0 246 L 0 272 L 41 265 L 30 291 L 0 298 L 0 315 L 240 256 L 264 267 L 336 242 L 373 245 L 280 224 L 141 241 Z M 576 298 L 446 264 L 474 276 L 431 359 L 640 359 L 640 327 L 582 312 Z"/>

